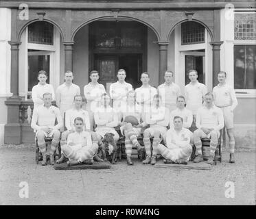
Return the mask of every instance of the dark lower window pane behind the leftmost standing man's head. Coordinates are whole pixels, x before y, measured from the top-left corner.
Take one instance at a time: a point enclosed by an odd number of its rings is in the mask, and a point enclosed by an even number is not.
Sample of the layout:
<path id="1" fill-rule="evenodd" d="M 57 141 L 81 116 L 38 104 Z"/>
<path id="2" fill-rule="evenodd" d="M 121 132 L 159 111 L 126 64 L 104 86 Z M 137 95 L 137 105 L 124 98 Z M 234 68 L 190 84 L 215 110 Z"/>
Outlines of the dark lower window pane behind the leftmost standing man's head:
<path id="1" fill-rule="evenodd" d="M 38 83 L 37 75 L 40 70 L 45 70 L 49 83 L 49 55 L 29 55 L 28 56 L 28 91 L 32 91 L 33 86 Z"/>

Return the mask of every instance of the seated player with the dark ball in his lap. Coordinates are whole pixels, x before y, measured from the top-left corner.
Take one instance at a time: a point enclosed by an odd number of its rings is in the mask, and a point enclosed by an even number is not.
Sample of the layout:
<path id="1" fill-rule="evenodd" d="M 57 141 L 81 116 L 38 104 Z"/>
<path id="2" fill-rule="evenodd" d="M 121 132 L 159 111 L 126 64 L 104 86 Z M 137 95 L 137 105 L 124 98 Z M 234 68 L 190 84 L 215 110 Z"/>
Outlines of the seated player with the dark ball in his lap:
<path id="1" fill-rule="evenodd" d="M 122 122 L 119 123 L 121 133 L 124 133 L 126 137 L 125 146 L 126 146 L 126 155 L 127 155 L 127 164 L 132 165 L 132 145 L 137 147 L 139 155 L 141 154 L 141 145 L 139 144 L 137 137 L 141 135 L 141 127 L 146 127 L 146 123 L 143 122 L 145 117 L 141 114 L 141 106 L 136 103 L 136 92 L 130 90 L 127 94 L 127 103 L 121 107 L 119 114 L 121 114 Z M 126 121 L 128 116 L 133 116 L 137 120 L 137 125 L 132 126 L 131 123 Z M 141 123 L 142 121 L 142 123 Z"/>

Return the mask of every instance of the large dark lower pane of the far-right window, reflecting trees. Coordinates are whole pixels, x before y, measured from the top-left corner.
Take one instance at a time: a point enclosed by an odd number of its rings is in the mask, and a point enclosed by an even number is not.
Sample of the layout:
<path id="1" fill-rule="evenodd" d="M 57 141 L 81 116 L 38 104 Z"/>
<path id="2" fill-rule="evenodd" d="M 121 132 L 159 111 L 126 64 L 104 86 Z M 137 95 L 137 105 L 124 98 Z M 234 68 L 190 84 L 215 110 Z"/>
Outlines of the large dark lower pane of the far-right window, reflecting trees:
<path id="1" fill-rule="evenodd" d="M 256 89 L 256 45 L 234 46 L 234 88 Z"/>

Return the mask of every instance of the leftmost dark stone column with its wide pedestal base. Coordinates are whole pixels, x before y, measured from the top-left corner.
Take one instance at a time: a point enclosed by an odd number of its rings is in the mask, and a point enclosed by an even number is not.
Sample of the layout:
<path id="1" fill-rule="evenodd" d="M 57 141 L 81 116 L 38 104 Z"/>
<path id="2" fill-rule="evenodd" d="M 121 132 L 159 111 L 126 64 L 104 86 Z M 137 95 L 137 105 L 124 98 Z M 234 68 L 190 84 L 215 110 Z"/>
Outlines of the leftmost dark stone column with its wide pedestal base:
<path id="1" fill-rule="evenodd" d="M 5 144 L 21 144 L 21 125 L 19 97 L 19 45 L 21 42 L 9 41 L 11 45 L 11 92 L 12 96 L 5 101 L 8 107 L 7 124 L 5 125 Z"/>

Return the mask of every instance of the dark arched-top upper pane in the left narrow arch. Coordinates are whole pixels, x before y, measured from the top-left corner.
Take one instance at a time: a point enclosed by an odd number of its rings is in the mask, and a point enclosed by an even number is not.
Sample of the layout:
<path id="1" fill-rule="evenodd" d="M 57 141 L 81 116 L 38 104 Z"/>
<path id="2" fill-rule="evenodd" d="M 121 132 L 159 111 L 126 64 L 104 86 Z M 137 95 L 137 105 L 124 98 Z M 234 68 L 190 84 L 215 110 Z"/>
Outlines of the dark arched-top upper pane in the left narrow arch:
<path id="1" fill-rule="evenodd" d="M 28 26 L 28 42 L 37 44 L 54 44 L 54 25 L 38 21 Z"/>

